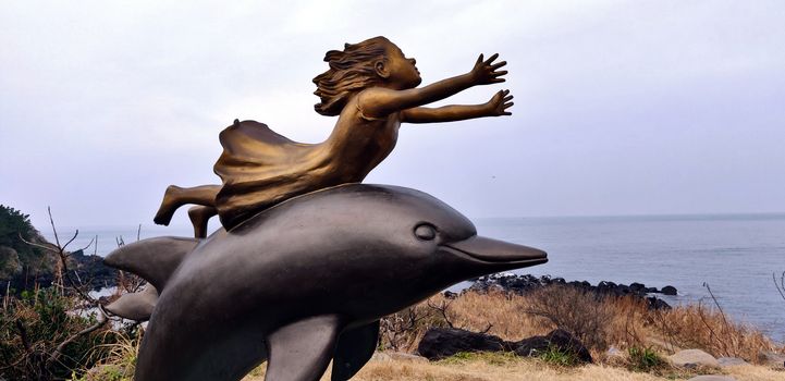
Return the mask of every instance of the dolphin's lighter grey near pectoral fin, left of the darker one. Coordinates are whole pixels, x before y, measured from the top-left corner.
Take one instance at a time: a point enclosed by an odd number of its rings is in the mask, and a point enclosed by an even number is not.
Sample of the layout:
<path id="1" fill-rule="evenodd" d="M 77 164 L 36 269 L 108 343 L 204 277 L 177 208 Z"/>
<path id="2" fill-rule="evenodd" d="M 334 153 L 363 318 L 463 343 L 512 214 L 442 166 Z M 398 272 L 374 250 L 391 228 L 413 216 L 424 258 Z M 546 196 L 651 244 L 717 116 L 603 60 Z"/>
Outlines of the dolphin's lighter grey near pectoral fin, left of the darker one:
<path id="1" fill-rule="evenodd" d="M 318 316 L 270 334 L 265 381 L 319 380 L 332 359 L 341 325 L 336 316 Z"/>

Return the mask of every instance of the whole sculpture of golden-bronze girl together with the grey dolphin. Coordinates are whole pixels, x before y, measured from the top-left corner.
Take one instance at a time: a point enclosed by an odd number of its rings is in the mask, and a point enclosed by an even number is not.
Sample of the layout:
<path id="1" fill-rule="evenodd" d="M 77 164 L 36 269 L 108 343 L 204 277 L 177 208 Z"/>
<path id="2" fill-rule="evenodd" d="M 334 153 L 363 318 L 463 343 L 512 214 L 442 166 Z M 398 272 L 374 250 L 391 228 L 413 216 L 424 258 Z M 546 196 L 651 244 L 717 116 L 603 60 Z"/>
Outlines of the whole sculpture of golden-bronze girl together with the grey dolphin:
<path id="1" fill-rule="evenodd" d="M 418 190 L 359 184 L 390 155 L 402 123 L 510 115 L 498 91 L 475 106 L 426 108 L 504 82 L 480 54 L 466 74 L 419 86 L 415 60 L 384 37 L 331 50 L 314 78 L 332 134 L 304 144 L 255 121 L 220 134 L 221 185 L 170 186 L 155 222 L 188 211 L 196 238 L 123 246 L 106 263 L 147 288 L 106 306 L 149 319 L 135 379 L 240 380 L 267 360 L 267 381 L 352 378 L 376 349 L 379 319 L 463 280 L 545 262 L 544 251 L 477 236 L 469 220 Z M 207 221 L 223 224 L 209 237 Z"/>

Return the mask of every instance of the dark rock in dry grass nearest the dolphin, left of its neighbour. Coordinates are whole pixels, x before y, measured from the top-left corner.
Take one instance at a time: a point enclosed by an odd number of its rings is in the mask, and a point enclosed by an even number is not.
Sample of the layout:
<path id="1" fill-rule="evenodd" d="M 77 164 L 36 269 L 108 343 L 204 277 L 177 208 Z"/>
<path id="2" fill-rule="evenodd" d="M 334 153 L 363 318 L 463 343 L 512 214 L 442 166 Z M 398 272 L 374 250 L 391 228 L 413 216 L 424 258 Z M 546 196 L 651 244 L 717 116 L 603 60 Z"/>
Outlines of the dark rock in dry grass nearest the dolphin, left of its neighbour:
<path id="1" fill-rule="evenodd" d="M 429 360 L 450 357 L 459 352 L 511 351 L 506 342 L 494 335 L 453 328 L 430 328 L 417 345 L 420 356 Z"/>

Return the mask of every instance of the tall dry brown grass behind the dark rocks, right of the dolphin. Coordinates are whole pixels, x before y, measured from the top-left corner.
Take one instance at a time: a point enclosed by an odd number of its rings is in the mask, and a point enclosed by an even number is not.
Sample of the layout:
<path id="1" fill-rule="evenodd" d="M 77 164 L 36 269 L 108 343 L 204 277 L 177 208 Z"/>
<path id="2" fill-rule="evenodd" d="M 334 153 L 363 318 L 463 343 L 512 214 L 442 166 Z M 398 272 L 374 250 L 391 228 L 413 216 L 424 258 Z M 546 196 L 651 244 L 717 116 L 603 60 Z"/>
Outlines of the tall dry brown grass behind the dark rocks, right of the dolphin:
<path id="1" fill-rule="evenodd" d="M 573 287 L 545 287 L 527 295 L 466 293 L 454 300 L 437 295 L 410 310 L 388 318 L 400 332 L 382 328 L 382 348 L 414 353 L 429 327 L 487 331 L 507 341 L 541 335 L 555 328 L 578 336 L 603 361 L 606 347 L 653 347 L 662 355 L 683 348 L 703 349 L 715 357 L 759 361 L 761 352 L 783 352 L 760 331 L 723 317 L 706 306 L 651 311 L 630 297 L 597 297 Z M 405 323 L 405 322 L 409 323 Z M 490 328 L 489 328 L 490 327 Z"/>

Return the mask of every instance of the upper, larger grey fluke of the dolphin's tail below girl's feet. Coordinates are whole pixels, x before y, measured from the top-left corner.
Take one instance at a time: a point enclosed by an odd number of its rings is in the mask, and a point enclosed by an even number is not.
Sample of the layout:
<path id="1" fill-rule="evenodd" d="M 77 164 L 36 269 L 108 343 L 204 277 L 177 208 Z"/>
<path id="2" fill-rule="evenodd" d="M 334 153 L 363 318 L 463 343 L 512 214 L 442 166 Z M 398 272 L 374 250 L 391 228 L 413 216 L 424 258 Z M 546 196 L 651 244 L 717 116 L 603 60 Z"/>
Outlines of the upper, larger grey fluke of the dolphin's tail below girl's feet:
<path id="1" fill-rule="evenodd" d="M 103 263 L 137 274 L 161 292 L 183 257 L 198 243 L 199 239 L 182 237 L 143 239 L 110 253 Z"/>

